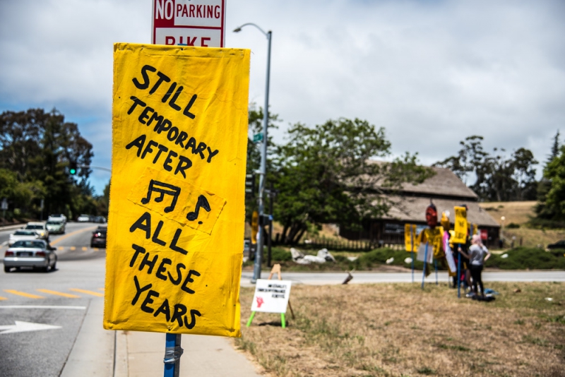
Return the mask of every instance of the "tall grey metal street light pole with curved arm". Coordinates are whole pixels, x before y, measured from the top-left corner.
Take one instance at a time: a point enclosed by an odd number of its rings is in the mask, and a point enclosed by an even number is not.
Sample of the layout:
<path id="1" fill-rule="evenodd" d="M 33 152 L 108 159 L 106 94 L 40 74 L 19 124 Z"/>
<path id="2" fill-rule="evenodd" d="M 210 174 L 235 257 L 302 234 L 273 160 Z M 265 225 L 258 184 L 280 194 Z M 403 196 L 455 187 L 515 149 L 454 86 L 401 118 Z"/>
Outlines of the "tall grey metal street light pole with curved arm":
<path id="1" fill-rule="evenodd" d="M 264 238 L 264 221 L 265 221 L 265 201 L 263 200 L 263 193 L 265 191 L 266 184 L 266 174 L 267 174 L 267 126 L 269 119 L 269 80 L 270 80 L 270 42 L 273 37 L 273 33 L 269 30 L 264 32 L 263 29 L 259 28 L 254 23 L 244 23 L 235 28 L 234 32 L 239 32 L 246 25 L 255 26 L 259 31 L 267 37 L 268 50 L 267 50 L 267 78 L 265 84 L 265 107 L 263 108 L 263 145 L 261 148 L 261 168 L 259 172 L 259 195 L 258 195 L 258 205 L 259 205 L 259 229 L 257 233 L 257 249 L 255 251 L 255 264 L 253 268 L 253 278 L 252 283 L 255 283 L 257 279 L 261 279 L 261 256 L 263 256 L 263 238 Z M 269 235 L 270 237 L 270 235 Z"/>

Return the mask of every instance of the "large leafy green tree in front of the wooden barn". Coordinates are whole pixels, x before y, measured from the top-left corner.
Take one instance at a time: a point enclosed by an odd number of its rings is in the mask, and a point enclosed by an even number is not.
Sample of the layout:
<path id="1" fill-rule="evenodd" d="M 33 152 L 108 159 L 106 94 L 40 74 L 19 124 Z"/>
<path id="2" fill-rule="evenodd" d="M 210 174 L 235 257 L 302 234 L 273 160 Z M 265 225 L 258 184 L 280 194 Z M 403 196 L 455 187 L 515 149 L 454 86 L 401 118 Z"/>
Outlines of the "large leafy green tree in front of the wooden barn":
<path id="1" fill-rule="evenodd" d="M 330 222 L 352 227 L 381 216 L 391 203 L 379 193 L 432 174 L 408 153 L 392 163 L 371 160 L 390 155 L 391 143 L 383 128 L 360 119 L 329 120 L 314 128 L 295 124 L 287 133 L 269 176 L 279 192 L 274 212 L 285 244 L 295 244 L 309 227 Z"/>

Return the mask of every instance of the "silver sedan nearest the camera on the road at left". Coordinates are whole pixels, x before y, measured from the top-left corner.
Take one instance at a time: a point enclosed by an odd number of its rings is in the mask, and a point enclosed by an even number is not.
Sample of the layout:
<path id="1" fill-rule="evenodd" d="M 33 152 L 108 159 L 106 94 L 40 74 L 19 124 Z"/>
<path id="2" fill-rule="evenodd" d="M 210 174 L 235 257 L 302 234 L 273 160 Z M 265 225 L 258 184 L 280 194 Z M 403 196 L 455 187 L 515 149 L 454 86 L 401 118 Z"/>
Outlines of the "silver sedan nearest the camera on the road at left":
<path id="1" fill-rule="evenodd" d="M 57 254 L 46 241 L 16 241 L 4 253 L 4 272 L 12 268 L 40 268 L 46 273 L 57 269 Z"/>

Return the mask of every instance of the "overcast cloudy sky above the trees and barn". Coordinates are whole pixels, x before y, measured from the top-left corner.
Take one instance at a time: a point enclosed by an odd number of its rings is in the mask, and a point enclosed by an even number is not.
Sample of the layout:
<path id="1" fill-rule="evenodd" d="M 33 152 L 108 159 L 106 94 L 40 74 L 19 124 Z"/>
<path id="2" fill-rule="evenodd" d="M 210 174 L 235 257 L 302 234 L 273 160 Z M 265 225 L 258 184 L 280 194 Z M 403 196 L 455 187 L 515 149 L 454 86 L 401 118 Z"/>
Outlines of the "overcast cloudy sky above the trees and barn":
<path id="1" fill-rule="evenodd" d="M 112 44 L 150 43 L 151 0 L 0 0 L 0 111 L 56 107 L 110 167 Z M 227 47 L 251 49 L 249 100 L 288 124 L 386 128 L 432 164 L 473 134 L 545 161 L 565 136 L 565 1 L 227 0 Z M 109 173 L 96 171 L 97 193 Z"/>

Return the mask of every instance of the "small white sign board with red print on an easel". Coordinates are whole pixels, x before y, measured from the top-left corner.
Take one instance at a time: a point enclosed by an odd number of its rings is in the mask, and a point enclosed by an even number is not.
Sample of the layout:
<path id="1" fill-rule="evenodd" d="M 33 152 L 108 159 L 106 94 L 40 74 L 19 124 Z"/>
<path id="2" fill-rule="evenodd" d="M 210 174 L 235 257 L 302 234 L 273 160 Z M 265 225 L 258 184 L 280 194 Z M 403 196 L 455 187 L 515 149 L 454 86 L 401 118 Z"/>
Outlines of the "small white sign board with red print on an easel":
<path id="1" fill-rule="evenodd" d="M 291 284 L 290 280 L 258 279 L 251 311 L 286 313 Z"/>

